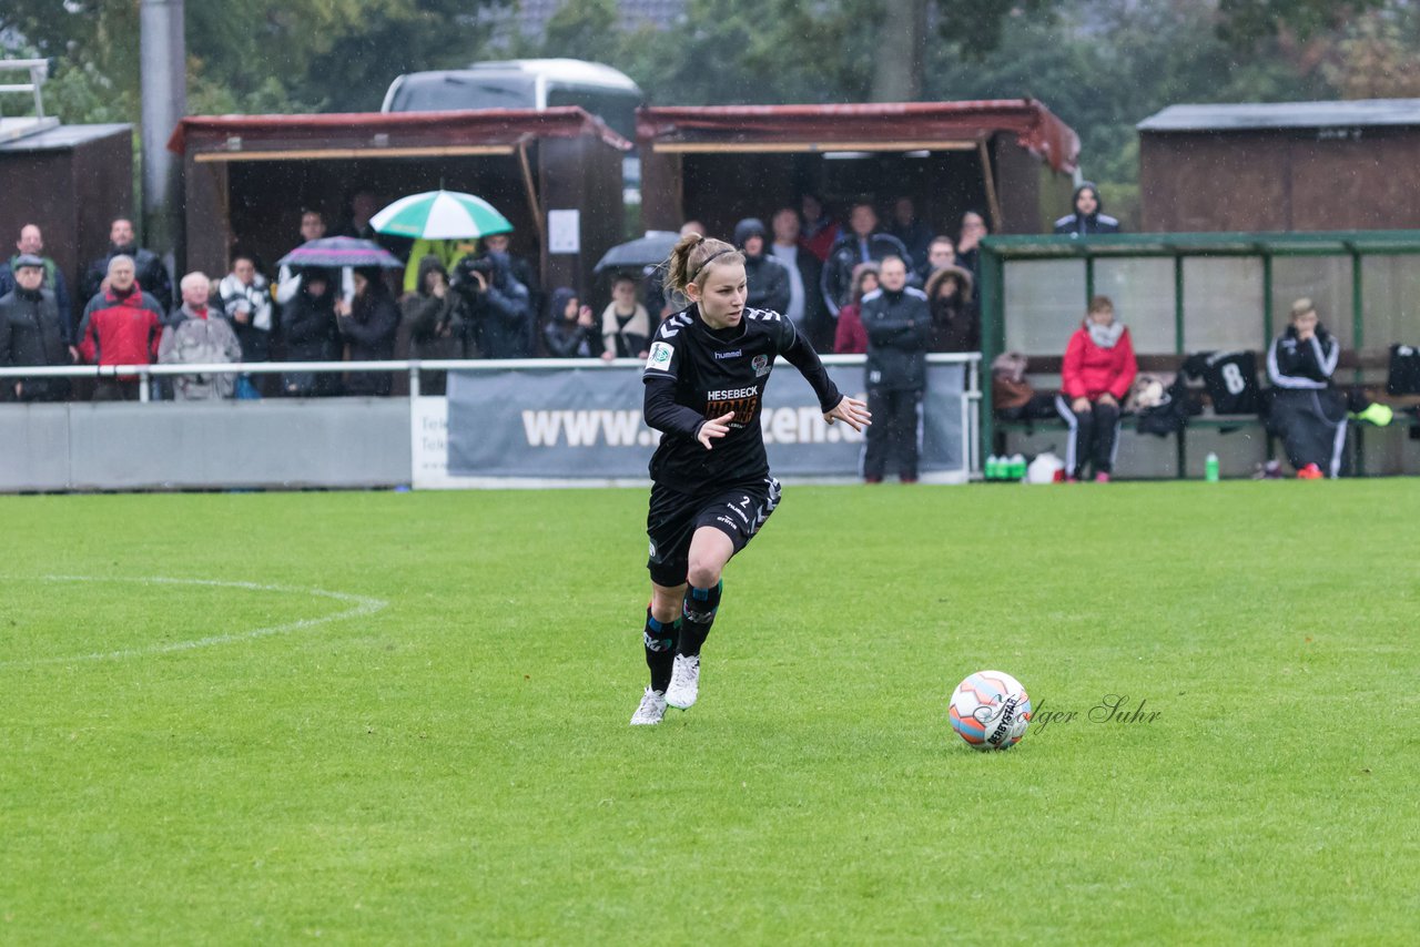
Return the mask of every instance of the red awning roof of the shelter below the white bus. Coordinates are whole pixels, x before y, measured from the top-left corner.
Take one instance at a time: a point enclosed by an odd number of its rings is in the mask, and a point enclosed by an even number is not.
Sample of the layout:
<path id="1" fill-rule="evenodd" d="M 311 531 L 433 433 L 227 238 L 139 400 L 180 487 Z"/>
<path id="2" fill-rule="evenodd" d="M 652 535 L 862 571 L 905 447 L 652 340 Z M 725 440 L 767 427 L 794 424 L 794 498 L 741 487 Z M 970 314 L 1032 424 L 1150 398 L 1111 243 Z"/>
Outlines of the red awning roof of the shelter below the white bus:
<path id="1" fill-rule="evenodd" d="M 293 158 L 422 158 L 511 155 L 545 138 L 598 138 L 618 150 L 632 143 L 581 108 L 450 112 L 329 112 L 321 115 L 193 115 L 168 149 L 204 160 Z"/>

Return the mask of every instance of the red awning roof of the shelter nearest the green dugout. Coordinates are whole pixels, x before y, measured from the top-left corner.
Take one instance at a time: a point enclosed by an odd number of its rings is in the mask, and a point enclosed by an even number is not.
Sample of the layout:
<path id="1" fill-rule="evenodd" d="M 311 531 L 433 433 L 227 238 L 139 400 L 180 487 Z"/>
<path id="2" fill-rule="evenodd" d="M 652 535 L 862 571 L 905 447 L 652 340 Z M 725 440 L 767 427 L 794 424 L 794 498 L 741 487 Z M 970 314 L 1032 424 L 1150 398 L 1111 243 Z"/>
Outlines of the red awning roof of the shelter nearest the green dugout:
<path id="1" fill-rule="evenodd" d="M 997 132 L 1061 172 L 1079 135 L 1035 99 L 863 105 L 650 106 L 636 135 L 657 152 L 971 150 Z"/>

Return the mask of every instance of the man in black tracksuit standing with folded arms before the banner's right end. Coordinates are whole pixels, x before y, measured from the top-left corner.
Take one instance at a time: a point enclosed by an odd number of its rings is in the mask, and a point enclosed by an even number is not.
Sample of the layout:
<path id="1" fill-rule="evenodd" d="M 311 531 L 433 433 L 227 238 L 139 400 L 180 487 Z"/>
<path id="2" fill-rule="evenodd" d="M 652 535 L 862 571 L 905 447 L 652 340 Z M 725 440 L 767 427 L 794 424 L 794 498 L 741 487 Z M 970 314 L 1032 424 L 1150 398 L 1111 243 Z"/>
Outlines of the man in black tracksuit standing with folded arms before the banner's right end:
<path id="1" fill-rule="evenodd" d="M 863 446 L 863 480 L 880 483 L 889 454 L 896 453 L 899 478 L 916 483 L 932 311 L 927 294 L 907 285 L 902 257 L 886 257 L 879 266 L 879 288 L 862 301 L 868 412 L 873 416 Z"/>

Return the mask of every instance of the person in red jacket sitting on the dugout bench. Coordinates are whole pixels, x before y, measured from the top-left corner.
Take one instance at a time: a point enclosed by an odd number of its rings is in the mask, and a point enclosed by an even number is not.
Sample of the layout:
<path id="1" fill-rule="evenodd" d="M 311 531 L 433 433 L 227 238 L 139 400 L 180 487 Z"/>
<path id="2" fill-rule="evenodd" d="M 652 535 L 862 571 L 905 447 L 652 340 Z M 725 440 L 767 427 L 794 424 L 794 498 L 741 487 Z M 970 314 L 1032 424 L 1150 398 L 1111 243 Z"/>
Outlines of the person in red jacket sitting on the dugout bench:
<path id="1" fill-rule="evenodd" d="M 1129 329 L 1115 321 L 1108 295 L 1089 301 L 1085 322 L 1075 329 L 1061 366 L 1061 393 L 1055 409 L 1069 425 L 1065 470 L 1071 480 L 1093 464 L 1095 481 L 1109 483 L 1119 449 L 1119 406 L 1139 373 Z"/>

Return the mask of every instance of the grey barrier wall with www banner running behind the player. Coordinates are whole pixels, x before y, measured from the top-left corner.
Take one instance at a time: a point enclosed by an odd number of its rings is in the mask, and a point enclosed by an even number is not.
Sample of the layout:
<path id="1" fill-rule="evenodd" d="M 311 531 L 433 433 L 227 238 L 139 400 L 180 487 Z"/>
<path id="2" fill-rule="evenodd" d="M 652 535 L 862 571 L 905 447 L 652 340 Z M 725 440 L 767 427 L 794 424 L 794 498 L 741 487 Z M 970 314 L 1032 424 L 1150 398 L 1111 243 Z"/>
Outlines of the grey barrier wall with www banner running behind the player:
<path id="1" fill-rule="evenodd" d="M 978 466 L 973 456 L 974 358 L 929 359 L 923 480 L 960 483 Z M 841 389 L 861 390 L 862 356 L 825 361 Z M 373 371 L 416 371 L 408 362 L 371 365 Z M 426 371 L 453 369 L 449 399 L 4 403 L 0 491 L 648 481 L 646 463 L 657 434 L 640 419 L 639 362 L 423 365 Z M 202 366 L 152 371 L 195 368 Z M 346 371 L 351 365 L 315 368 Z M 48 369 L 64 371 L 94 369 Z M 862 436 L 843 426 L 826 427 L 809 386 L 787 365 L 781 371 L 787 378 L 768 389 L 763 412 L 771 466 L 791 481 L 856 480 Z"/>

